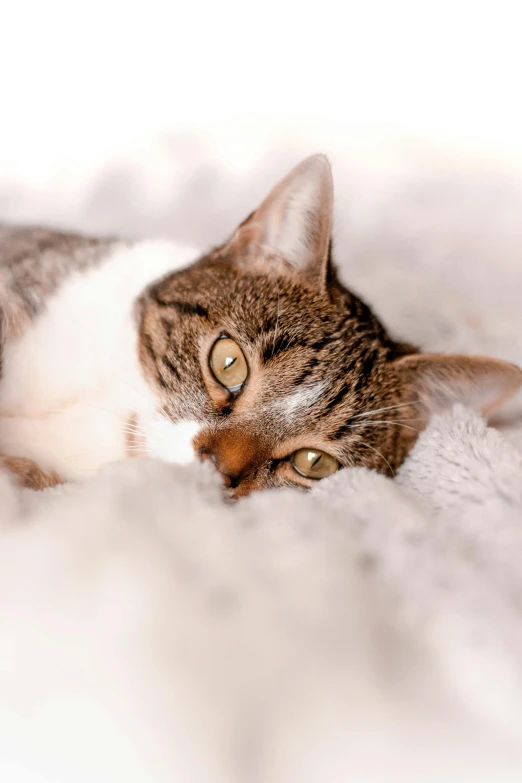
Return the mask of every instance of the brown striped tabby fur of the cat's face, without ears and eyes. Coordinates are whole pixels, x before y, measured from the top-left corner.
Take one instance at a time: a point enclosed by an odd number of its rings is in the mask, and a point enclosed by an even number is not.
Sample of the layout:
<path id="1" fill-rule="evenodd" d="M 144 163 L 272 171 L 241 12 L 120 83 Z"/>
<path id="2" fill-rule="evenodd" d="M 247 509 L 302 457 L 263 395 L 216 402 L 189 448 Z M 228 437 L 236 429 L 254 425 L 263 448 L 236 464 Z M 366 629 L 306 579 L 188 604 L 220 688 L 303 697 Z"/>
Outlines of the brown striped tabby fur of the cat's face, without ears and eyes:
<path id="1" fill-rule="evenodd" d="M 404 401 L 391 363 L 414 349 L 388 336 L 333 266 L 320 291 L 291 277 L 244 273 L 229 250 L 218 249 L 153 286 L 142 307 L 141 357 L 166 411 L 208 422 L 196 448 L 202 456 L 217 450 L 222 472 L 241 484 L 237 495 L 302 485 L 285 460 L 301 446 L 388 474 L 411 448 L 415 406 L 379 414 L 389 422 L 379 427 L 355 416 Z M 207 370 L 206 354 L 221 333 L 239 343 L 250 366 L 237 396 Z M 314 405 L 285 418 L 278 400 L 316 383 L 325 389 Z"/>

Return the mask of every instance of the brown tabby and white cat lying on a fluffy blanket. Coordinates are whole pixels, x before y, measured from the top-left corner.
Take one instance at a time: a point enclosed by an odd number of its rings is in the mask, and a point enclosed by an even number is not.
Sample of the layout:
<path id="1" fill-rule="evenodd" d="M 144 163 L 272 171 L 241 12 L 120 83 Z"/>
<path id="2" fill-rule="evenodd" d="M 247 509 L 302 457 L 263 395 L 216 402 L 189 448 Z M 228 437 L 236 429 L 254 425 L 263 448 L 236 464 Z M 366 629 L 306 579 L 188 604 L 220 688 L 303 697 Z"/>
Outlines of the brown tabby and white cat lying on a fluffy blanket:
<path id="1" fill-rule="evenodd" d="M 393 475 L 434 412 L 522 371 L 394 340 L 332 260 L 333 184 L 298 164 L 222 245 L 0 228 L 0 454 L 19 484 L 211 460 L 232 498 Z M 196 259 L 196 260 L 195 260 Z"/>

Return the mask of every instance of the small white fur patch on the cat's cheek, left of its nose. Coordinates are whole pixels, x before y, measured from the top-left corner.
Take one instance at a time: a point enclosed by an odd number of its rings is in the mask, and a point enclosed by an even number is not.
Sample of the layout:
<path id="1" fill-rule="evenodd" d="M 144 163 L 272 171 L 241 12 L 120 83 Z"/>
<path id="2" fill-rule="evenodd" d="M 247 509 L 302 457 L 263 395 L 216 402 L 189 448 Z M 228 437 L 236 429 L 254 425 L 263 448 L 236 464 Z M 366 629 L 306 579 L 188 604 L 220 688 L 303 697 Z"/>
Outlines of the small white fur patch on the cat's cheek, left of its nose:
<path id="1" fill-rule="evenodd" d="M 146 423 L 144 430 L 150 457 L 178 465 L 195 462 L 193 440 L 201 431 L 200 422 L 172 422 L 165 416 L 154 416 Z"/>

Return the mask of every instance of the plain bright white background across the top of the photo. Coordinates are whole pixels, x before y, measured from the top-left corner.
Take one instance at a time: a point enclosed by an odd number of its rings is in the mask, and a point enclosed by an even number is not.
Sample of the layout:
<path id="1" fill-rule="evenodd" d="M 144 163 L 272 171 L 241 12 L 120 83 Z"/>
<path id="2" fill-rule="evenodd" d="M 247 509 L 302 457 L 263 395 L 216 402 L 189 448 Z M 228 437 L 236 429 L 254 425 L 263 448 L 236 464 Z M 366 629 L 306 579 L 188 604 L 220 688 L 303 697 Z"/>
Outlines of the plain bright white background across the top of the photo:
<path id="1" fill-rule="evenodd" d="M 518 155 L 520 31 L 516 0 L 4 2 L 0 186 L 238 122 Z"/>

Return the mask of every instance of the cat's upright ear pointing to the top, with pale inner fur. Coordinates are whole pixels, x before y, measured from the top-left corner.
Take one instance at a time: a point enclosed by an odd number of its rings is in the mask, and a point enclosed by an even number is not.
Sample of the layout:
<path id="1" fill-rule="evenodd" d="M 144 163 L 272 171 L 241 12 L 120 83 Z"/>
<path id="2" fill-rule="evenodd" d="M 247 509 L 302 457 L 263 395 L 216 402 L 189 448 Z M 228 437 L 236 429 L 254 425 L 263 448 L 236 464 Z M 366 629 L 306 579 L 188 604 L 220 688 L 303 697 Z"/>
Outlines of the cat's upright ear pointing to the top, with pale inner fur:
<path id="1" fill-rule="evenodd" d="M 301 161 L 237 229 L 227 245 L 243 268 L 266 265 L 324 287 L 332 232 L 333 182 L 324 155 Z"/>

